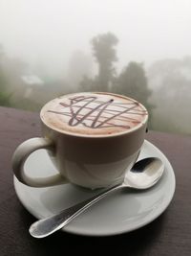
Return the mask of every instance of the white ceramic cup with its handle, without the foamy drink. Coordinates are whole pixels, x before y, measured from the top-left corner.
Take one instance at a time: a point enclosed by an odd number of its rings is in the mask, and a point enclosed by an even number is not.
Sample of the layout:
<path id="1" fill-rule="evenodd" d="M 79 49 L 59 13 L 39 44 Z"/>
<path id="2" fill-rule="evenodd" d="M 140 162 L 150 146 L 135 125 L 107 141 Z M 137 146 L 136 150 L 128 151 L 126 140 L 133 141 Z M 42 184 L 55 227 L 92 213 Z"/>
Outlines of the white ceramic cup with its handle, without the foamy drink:
<path id="1" fill-rule="evenodd" d="M 95 136 L 60 131 L 49 127 L 41 118 L 42 137 L 29 139 L 18 146 L 12 156 L 13 173 L 20 182 L 32 187 L 71 182 L 96 189 L 122 183 L 138 158 L 147 121 L 148 114 L 135 128 Z M 24 170 L 28 156 L 40 149 L 49 152 L 57 169 L 51 177 L 30 177 Z"/>

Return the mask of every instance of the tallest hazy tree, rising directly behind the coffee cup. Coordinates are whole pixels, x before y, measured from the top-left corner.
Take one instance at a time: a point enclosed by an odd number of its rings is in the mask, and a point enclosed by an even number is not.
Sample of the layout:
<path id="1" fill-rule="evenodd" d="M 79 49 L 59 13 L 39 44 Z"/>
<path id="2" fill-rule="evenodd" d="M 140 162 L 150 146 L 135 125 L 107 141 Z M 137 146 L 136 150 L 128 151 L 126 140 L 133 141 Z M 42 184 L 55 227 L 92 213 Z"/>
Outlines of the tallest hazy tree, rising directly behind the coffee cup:
<path id="1" fill-rule="evenodd" d="M 110 82 L 116 76 L 113 63 L 117 61 L 117 42 L 117 36 L 112 33 L 97 35 L 91 41 L 93 54 L 98 63 L 98 76 L 95 81 L 98 90 L 108 91 Z"/>

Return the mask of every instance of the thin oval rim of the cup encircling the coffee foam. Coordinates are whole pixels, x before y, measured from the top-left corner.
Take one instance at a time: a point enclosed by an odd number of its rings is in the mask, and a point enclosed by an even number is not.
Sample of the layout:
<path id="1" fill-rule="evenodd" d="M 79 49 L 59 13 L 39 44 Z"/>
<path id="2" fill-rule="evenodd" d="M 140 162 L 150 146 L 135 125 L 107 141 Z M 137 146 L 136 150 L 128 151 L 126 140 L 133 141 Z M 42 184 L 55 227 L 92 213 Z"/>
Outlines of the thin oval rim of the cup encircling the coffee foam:
<path id="1" fill-rule="evenodd" d="M 62 129 L 59 129 L 59 128 L 55 128 L 53 127 L 51 124 L 48 124 L 44 119 L 43 119 L 43 115 L 42 115 L 42 112 L 44 110 L 44 107 L 46 105 L 48 105 L 50 102 L 52 102 L 53 100 L 55 99 L 59 99 L 59 98 L 62 98 L 63 96 L 70 96 L 70 95 L 74 95 L 74 94 L 83 94 L 83 93 L 96 93 L 96 94 L 107 94 L 107 95 L 114 95 L 114 96 L 117 96 L 117 97 L 121 97 L 121 98 L 125 98 L 125 99 L 130 99 L 134 102 L 137 102 L 138 105 L 140 105 L 145 111 L 146 111 L 146 114 L 145 114 L 145 117 L 144 119 L 138 124 L 138 126 L 134 127 L 134 128 L 131 128 L 131 129 L 125 129 L 124 131 L 120 131 L 120 132 L 117 132 L 117 133 L 114 133 L 114 134 L 83 134 L 83 133 L 77 133 L 77 132 L 70 132 L 70 131 L 67 131 L 67 130 L 62 130 Z M 121 136 L 121 135 L 125 135 L 125 134 L 131 134 L 132 132 L 134 131 L 137 131 L 139 128 L 142 128 L 143 126 L 145 126 L 148 122 L 148 110 L 147 108 L 142 105 L 141 103 L 139 103 L 137 100 L 135 100 L 134 98 L 131 98 L 131 97 L 128 97 L 126 95 L 122 95 L 122 94 L 116 94 L 116 93 L 110 93 L 110 92 L 96 92 L 96 91 L 91 91 L 91 92 L 75 92 L 75 93 L 69 93 L 69 94 L 65 94 L 65 95 L 62 95 L 60 97 L 57 97 L 57 98 L 54 98 L 53 100 L 49 101 L 47 104 L 43 105 L 41 110 L 40 110 L 40 119 L 41 119 L 41 122 L 47 127 L 47 128 L 50 128 L 52 129 L 53 131 L 56 131 L 60 134 L 63 134 L 63 135 L 70 135 L 70 136 L 73 136 L 73 137 L 81 137 L 81 138 L 110 138 L 110 137 L 117 137 L 117 136 Z"/>

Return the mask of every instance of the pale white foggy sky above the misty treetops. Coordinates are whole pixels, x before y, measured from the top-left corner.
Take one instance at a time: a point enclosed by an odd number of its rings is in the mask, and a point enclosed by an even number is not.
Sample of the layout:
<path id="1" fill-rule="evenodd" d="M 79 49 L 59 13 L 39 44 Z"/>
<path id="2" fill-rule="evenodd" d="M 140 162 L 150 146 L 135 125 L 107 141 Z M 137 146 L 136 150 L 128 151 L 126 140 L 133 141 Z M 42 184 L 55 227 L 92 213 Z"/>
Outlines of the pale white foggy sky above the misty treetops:
<path id="1" fill-rule="evenodd" d="M 118 66 L 191 55 L 190 0 L 0 0 L 0 43 L 11 57 L 67 72 L 75 50 L 117 35 Z"/>

